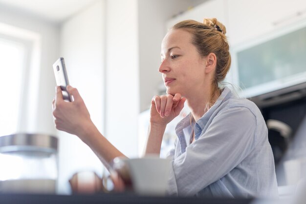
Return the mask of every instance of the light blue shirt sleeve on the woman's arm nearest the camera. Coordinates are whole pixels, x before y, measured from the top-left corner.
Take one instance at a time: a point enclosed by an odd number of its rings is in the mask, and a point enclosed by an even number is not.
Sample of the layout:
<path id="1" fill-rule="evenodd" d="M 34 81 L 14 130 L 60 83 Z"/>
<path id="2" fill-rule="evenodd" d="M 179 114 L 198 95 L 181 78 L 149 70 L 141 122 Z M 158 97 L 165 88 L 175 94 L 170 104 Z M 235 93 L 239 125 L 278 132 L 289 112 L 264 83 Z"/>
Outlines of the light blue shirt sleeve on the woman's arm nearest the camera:
<path id="1" fill-rule="evenodd" d="M 172 161 L 170 195 L 192 196 L 235 168 L 254 148 L 256 117 L 245 107 L 220 111 L 206 131 Z"/>

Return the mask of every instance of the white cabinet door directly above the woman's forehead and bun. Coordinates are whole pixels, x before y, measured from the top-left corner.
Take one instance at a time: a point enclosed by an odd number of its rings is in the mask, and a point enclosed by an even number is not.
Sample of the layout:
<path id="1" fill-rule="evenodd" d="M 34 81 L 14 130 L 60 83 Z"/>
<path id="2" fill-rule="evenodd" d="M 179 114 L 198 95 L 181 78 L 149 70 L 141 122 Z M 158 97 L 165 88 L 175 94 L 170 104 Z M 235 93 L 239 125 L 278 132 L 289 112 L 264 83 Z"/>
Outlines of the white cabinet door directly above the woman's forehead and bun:
<path id="1" fill-rule="evenodd" d="M 204 2 L 195 8 L 186 11 L 183 14 L 176 16 L 167 23 L 167 29 L 184 20 L 195 20 L 203 22 L 204 18 L 217 18 L 219 22 L 227 24 L 225 19 L 225 0 L 209 0 Z"/>

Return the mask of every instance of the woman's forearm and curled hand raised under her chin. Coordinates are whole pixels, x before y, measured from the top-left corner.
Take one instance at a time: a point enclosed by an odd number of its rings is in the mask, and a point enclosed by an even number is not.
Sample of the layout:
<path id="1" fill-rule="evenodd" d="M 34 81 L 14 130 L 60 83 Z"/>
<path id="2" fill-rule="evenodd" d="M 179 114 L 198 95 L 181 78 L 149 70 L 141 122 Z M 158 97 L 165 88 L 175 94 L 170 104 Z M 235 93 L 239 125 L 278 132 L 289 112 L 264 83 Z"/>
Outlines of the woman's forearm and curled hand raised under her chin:
<path id="1" fill-rule="evenodd" d="M 150 124 L 145 155 L 160 154 L 160 147 L 167 124 L 183 109 L 186 98 L 176 93 L 154 96 L 150 108 Z"/>

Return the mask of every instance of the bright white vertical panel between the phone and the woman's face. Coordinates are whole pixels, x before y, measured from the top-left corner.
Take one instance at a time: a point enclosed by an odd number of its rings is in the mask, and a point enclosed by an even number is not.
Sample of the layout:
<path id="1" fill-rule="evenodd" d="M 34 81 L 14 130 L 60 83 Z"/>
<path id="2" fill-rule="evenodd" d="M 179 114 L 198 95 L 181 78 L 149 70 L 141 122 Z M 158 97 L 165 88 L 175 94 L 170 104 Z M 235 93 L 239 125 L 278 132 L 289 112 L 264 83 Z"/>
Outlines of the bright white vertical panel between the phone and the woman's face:
<path id="1" fill-rule="evenodd" d="M 107 0 L 106 6 L 106 136 L 129 157 L 137 156 L 137 1 Z"/>

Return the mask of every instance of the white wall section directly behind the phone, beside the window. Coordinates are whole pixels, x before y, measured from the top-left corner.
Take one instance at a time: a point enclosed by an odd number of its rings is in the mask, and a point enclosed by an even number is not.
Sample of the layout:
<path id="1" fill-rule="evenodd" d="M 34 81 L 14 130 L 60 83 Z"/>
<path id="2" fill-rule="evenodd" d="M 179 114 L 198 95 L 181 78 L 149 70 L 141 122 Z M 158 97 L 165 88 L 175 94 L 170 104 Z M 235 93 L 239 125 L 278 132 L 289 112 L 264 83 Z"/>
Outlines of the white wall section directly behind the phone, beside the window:
<path id="1" fill-rule="evenodd" d="M 104 132 L 104 27 L 105 1 L 97 0 L 61 26 L 61 56 L 65 58 L 71 86 L 76 87 L 90 117 Z M 58 56 L 60 57 L 60 56 Z M 79 171 L 102 174 L 102 163 L 77 136 L 59 131 L 59 193 L 69 193 L 68 180 Z"/>

